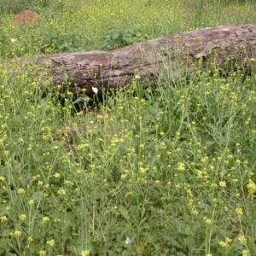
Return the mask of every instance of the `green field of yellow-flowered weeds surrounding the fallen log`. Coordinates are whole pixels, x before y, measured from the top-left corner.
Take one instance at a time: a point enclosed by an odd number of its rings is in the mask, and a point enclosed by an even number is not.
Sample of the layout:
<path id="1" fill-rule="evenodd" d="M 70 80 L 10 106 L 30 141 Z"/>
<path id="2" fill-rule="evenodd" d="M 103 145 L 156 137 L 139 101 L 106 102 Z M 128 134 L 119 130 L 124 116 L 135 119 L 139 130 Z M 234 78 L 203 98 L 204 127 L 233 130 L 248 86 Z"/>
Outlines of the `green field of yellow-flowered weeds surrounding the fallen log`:
<path id="1" fill-rule="evenodd" d="M 187 2 L 8 1 L 0 57 L 255 23 L 253 1 Z M 22 4 L 37 24 L 10 25 Z M 254 255 L 256 73 L 209 73 L 90 110 L 0 64 L 0 255 Z"/>

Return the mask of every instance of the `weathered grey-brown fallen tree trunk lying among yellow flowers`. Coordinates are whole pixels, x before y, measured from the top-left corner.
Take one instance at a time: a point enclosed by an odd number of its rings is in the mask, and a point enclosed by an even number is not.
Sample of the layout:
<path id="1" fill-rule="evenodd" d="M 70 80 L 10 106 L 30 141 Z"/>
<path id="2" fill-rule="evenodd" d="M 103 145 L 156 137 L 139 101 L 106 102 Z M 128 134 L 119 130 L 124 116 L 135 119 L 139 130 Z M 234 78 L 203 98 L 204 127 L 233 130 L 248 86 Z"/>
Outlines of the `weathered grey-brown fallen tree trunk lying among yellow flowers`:
<path id="1" fill-rule="evenodd" d="M 94 94 L 92 87 L 117 89 L 137 75 L 148 84 L 161 76 L 174 82 L 189 77 L 196 68 L 211 66 L 222 73 L 241 69 L 249 73 L 256 59 L 256 25 L 218 26 L 183 32 L 112 51 L 91 51 L 20 58 L 48 71 L 54 85 L 70 79 L 70 90 Z M 3 63 L 3 62 L 2 62 Z M 5 62 L 7 63 L 7 62 Z M 9 73 L 15 70 L 9 69 Z M 164 73 L 164 75 L 163 75 Z M 85 93 L 82 92 L 83 89 Z"/>

